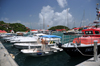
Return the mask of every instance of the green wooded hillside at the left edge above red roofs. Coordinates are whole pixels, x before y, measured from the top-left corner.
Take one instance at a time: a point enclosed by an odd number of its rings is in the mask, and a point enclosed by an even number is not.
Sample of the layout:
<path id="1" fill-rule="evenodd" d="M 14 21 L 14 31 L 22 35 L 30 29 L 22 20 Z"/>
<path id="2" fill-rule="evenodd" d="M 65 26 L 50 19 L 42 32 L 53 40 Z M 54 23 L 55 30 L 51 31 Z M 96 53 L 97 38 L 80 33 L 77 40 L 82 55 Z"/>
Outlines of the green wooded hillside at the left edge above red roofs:
<path id="1" fill-rule="evenodd" d="M 0 21 L 0 30 L 5 30 L 7 32 L 10 32 L 10 30 L 14 30 L 15 32 L 17 31 L 28 31 L 24 25 L 21 23 L 5 23 L 3 21 Z"/>

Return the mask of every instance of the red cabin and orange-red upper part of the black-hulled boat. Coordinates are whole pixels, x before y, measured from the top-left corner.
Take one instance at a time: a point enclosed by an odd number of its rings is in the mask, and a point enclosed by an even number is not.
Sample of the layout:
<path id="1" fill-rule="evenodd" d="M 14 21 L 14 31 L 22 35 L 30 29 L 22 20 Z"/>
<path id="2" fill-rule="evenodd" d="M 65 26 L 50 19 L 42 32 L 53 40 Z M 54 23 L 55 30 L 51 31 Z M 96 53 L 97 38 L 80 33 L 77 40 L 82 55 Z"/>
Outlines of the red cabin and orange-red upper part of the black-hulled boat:
<path id="1" fill-rule="evenodd" d="M 91 28 L 82 30 L 84 35 L 79 38 L 75 38 L 73 43 L 81 43 L 85 45 L 94 44 L 94 40 L 97 40 L 100 43 L 100 28 Z"/>

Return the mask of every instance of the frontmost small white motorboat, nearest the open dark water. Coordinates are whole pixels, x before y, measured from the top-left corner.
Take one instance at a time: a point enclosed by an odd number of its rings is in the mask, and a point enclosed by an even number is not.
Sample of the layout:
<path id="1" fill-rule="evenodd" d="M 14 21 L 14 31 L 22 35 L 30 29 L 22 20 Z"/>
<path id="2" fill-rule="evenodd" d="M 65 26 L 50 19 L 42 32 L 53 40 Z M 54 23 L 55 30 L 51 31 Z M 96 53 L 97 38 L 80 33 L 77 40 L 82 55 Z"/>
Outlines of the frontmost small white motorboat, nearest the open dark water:
<path id="1" fill-rule="evenodd" d="M 58 48 L 57 46 L 52 46 L 52 47 L 46 47 L 45 48 L 33 48 L 33 49 L 22 49 L 21 52 L 26 54 L 26 55 L 30 55 L 30 56 L 34 56 L 34 57 L 39 57 L 39 56 L 46 56 L 46 55 L 51 55 L 54 53 L 58 53 L 63 51 L 63 49 Z"/>

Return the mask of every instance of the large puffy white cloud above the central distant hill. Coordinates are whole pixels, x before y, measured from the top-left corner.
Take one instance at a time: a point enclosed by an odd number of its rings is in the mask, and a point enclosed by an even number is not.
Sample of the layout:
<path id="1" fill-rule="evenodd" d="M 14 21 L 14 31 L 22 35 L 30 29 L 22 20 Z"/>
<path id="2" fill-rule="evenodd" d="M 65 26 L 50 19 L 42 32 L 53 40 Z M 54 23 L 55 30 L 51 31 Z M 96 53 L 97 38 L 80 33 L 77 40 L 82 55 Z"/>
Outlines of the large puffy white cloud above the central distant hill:
<path id="1" fill-rule="evenodd" d="M 62 12 L 54 12 L 53 8 L 50 7 L 49 5 L 46 7 L 43 7 L 41 10 L 41 13 L 39 13 L 39 24 L 43 25 L 43 17 L 44 17 L 44 22 L 45 22 L 45 28 L 47 25 L 50 27 L 56 26 L 56 25 L 65 25 L 71 24 L 73 17 L 72 15 L 68 12 L 70 8 L 64 9 Z M 68 21 L 68 23 L 67 23 Z"/>

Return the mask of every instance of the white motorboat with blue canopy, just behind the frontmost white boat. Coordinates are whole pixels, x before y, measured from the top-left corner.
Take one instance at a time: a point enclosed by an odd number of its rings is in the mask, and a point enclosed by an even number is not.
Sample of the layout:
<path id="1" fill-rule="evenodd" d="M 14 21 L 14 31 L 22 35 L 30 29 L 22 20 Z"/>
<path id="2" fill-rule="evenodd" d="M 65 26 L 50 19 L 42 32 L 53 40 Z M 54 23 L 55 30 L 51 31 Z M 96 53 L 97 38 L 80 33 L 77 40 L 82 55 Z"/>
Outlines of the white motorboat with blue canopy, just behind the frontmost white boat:
<path id="1" fill-rule="evenodd" d="M 55 44 L 61 43 L 60 38 L 60 36 L 56 35 L 44 35 L 41 36 L 40 39 L 34 41 L 33 43 L 15 43 L 14 46 L 18 49 L 27 49 L 28 46 L 30 46 L 31 48 L 41 47 L 41 39 L 46 40 L 48 46 L 54 46 Z"/>

